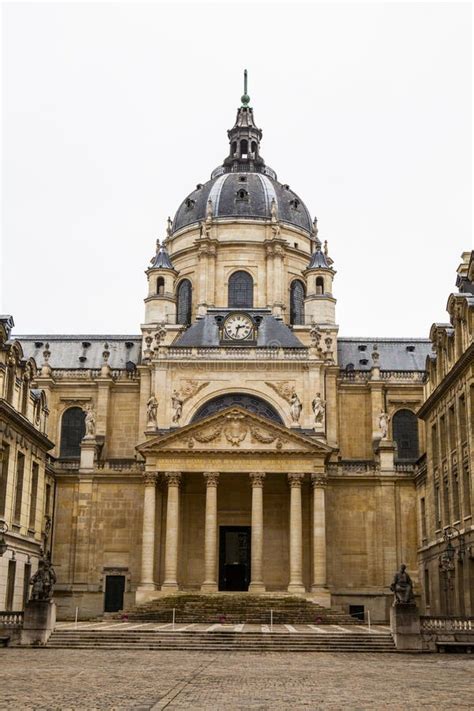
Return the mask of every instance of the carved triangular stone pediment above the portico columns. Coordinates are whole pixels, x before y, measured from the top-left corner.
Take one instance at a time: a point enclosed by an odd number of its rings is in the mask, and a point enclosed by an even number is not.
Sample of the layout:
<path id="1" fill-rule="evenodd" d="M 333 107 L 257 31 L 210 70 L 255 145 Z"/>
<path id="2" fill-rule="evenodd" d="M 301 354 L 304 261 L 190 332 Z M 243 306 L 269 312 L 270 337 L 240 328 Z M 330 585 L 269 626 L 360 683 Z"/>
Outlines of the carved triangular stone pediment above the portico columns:
<path id="1" fill-rule="evenodd" d="M 331 447 L 315 437 L 295 432 L 241 407 L 229 407 L 179 430 L 156 435 L 137 449 L 144 456 L 152 452 L 234 451 L 326 457 L 332 452 Z"/>

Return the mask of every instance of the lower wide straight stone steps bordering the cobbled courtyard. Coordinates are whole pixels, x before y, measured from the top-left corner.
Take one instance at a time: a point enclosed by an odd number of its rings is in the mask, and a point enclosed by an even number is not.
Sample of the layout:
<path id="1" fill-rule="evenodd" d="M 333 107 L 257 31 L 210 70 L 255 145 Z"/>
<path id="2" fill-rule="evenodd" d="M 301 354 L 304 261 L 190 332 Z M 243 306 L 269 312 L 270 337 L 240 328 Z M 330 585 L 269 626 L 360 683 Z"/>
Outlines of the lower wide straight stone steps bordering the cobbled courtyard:
<path id="1" fill-rule="evenodd" d="M 58 629 L 48 648 L 199 652 L 396 652 L 389 632 L 212 632 Z"/>

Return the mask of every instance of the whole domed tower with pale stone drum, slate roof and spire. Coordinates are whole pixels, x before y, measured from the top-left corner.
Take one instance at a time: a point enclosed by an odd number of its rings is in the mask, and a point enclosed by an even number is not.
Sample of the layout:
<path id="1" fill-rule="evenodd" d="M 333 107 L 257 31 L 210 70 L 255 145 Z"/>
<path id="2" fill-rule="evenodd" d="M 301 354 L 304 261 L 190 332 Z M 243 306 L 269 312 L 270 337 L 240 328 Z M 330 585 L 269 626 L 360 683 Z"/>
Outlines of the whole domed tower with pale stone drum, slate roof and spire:
<path id="1" fill-rule="evenodd" d="M 145 323 L 191 326 L 176 345 L 218 345 L 229 309 L 260 310 L 252 316 L 256 345 L 301 346 L 296 327 L 334 325 L 332 262 L 321 251 L 316 219 L 261 155 L 246 83 L 245 74 L 228 155 L 168 219 L 147 270 Z M 284 336 L 276 321 L 294 333 L 286 328 Z"/>

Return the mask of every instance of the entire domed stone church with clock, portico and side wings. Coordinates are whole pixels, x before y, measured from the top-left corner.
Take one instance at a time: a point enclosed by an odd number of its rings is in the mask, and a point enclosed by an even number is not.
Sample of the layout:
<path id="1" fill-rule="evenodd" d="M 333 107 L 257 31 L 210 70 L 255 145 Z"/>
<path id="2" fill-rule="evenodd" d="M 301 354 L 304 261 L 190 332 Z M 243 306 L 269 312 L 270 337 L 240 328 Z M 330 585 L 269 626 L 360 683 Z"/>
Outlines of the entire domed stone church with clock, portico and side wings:
<path id="1" fill-rule="evenodd" d="M 402 562 L 420 589 L 431 342 L 338 338 L 327 243 L 261 137 L 244 94 L 157 244 L 140 335 L 18 336 L 55 443 L 62 616 L 180 589 L 386 620 Z"/>

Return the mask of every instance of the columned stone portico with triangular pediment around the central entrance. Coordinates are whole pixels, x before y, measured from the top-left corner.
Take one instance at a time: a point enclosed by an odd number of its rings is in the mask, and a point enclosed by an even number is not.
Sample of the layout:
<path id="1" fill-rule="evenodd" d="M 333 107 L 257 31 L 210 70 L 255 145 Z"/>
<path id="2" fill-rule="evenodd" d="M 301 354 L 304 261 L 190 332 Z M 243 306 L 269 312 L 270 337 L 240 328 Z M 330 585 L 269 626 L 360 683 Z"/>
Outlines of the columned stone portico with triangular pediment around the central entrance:
<path id="1" fill-rule="evenodd" d="M 138 449 L 146 473 L 137 600 L 159 589 L 246 589 L 312 591 L 330 603 L 324 442 L 229 408 Z"/>

